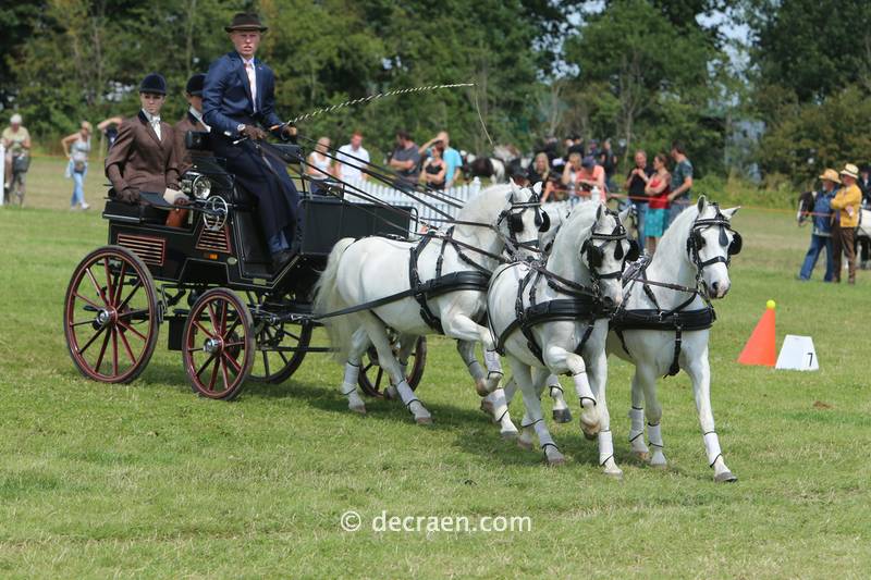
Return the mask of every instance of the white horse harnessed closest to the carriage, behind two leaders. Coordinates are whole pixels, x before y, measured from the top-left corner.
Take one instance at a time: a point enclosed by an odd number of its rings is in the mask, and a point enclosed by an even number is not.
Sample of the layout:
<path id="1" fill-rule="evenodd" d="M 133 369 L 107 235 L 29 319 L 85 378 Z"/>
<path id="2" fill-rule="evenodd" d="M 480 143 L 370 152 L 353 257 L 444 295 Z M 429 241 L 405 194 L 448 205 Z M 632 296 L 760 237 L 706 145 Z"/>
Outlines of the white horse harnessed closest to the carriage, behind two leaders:
<path id="1" fill-rule="evenodd" d="M 506 240 L 517 244 L 520 255 L 528 254 L 524 245 L 538 244 L 542 226 L 538 195 L 513 183 L 491 186 L 469 200 L 456 220 L 456 225 L 429 234 L 419 243 L 384 237 L 344 238 L 330 252 L 327 269 L 316 286 L 316 313 L 336 312 L 403 295 L 387 304 L 324 320 L 335 358 L 345 363 L 340 390 L 352 410 L 366 412 L 357 392 L 357 377 L 360 357 L 371 344 L 378 351 L 379 365 L 390 378 L 388 393 L 398 395 L 418 423 L 430 423 L 429 411 L 406 382 L 405 367 L 416 338 L 437 332 L 457 340 L 457 350 L 479 395 L 484 396 L 499 386 L 502 378 L 499 356 L 490 331 L 477 321 L 484 317 L 487 284 Z M 412 266 L 413 259 L 416 268 Z M 470 274 L 473 283 L 463 284 L 462 277 L 455 277 L 453 284 L 424 291 L 422 285 L 459 272 Z M 413 276 L 419 282 L 413 281 Z M 400 335 L 398 360 L 391 350 L 388 329 Z M 484 347 L 487 374 L 475 357 L 477 343 Z M 502 408 L 504 402 L 498 406 Z"/>

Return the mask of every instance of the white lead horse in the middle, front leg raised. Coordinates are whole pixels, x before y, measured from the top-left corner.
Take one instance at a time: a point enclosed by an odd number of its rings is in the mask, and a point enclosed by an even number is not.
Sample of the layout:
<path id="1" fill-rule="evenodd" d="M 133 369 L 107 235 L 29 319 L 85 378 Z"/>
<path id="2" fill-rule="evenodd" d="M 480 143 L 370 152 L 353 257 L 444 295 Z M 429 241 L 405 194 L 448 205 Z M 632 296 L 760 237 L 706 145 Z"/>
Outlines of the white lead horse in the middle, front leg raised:
<path id="1" fill-rule="evenodd" d="M 487 295 L 490 325 L 526 405 L 519 444 L 531 447 L 535 429 L 550 465 L 564 457 L 543 421 L 540 395 L 550 373 L 569 374 L 580 402 L 581 430 L 589 439 L 599 436 L 605 473 L 622 474 L 613 456 L 604 348 L 606 312 L 623 300 L 619 275 L 630 254 L 617 217 L 600 203 L 587 203 L 561 227 L 543 271 L 515 262 L 493 274 Z"/>

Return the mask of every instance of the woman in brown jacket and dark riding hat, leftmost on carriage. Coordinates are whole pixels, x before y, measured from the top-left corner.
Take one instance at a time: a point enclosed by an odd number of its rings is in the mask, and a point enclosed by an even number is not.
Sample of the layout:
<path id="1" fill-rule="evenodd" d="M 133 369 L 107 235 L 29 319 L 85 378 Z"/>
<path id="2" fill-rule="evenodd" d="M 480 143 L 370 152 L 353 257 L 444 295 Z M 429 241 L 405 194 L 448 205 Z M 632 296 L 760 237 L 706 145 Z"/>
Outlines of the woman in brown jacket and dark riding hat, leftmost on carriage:
<path id="1" fill-rule="evenodd" d="M 115 197 L 127 203 L 139 202 L 139 192 L 163 194 L 179 189 L 179 168 L 174 155 L 172 125 L 160 120 L 167 98 L 167 82 L 157 73 L 139 85 L 142 110 L 125 119 L 106 158 L 106 176 Z"/>

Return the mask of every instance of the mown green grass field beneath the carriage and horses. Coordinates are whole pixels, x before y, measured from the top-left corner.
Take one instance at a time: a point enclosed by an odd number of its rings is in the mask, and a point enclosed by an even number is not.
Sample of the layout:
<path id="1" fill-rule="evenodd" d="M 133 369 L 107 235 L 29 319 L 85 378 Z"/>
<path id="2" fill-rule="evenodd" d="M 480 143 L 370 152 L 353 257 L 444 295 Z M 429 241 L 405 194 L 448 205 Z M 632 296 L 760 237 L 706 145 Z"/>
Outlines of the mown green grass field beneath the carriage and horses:
<path id="1" fill-rule="evenodd" d="M 86 194 L 95 210 L 97 173 Z M 787 212 L 736 217 L 745 249 L 712 332 L 714 412 L 738 483 L 712 481 L 684 373 L 660 383 L 670 469 L 633 460 L 630 368 L 614 359 L 609 398 L 625 477 L 613 481 L 577 422 L 553 427 L 568 459 L 557 469 L 500 440 L 441 338 L 430 342 L 418 391 L 431 428 L 388 402 L 368 402 L 367 417 L 348 412 L 341 369 L 322 355 L 235 403 L 199 399 L 180 354 L 165 349 L 165 328 L 133 384 L 82 379 L 65 353 L 63 293 L 78 260 L 105 244 L 106 224 L 99 211 L 56 211 L 72 187 L 61 175 L 60 163 L 34 163 L 32 207 L 0 208 L 0 576 L 858 578 L 871 569 L 862 451 L 871 275 L 860 272 L 855 287 L 796 282 L 809 233 Z M 778 304 L 778 342 L 813 336 L 819 372 L 735 362 L 768 298 Z M 363 518 L 356 533 L 340 527 L 351 509 Z M 384 510 L 526 516 L 531 531 L 372 531 Z"/>

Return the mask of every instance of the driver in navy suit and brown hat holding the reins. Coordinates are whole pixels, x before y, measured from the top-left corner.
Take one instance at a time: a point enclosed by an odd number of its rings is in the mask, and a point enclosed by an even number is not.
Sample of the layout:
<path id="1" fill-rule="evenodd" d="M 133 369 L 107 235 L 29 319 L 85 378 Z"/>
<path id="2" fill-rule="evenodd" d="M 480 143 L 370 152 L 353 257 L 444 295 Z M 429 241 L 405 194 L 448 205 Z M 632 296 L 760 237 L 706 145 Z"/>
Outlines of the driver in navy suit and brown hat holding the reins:
<path id="1" fill-rule="evenodd" d="M 235 50 L 209 66 L 203 120 L 211 127 L 214 155 L 224 158 L 236 182 L 257 197 L 272 267 L 279 269 L 293 256 L 299 196 L 284 164 L 261 157 L 250 140 L 265 139 L 263 127 L 281 137 L 291 137 L 295 129 L 275 114 L 275 76 L 254 55 L 267 27 L 256 14 L 238 13 L 224 29 Z M 247 140 L 233 145 L 242 137 Z"/>

